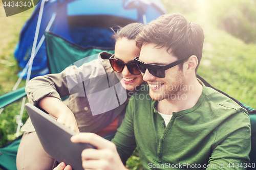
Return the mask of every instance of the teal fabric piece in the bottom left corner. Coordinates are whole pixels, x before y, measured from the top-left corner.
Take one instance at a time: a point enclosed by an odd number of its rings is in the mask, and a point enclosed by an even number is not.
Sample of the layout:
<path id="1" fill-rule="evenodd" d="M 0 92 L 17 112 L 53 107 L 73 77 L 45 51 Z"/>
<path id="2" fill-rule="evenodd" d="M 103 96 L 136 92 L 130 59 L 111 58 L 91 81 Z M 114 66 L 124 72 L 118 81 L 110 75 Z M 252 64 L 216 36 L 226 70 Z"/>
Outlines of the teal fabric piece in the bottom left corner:
<path id="1" fill-rule="evenodd" d="M 0 148 L 0 168 L 4 170 L 17 170 L 16 155 L 21 138 L 22 136 L 19 136 L 11 143 L 4 145 L 2 148 Z"/>

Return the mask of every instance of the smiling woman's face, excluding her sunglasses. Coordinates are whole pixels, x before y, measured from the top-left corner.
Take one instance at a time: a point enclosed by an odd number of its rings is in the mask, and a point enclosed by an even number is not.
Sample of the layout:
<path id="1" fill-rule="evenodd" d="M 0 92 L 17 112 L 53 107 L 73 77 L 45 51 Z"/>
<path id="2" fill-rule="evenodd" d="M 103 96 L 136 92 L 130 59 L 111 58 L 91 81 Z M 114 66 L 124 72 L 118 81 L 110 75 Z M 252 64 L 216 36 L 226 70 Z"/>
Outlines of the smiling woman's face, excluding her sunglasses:
<path id="1" fill-rule="evenodd" d="M 134 61 L 134 58 L 140 55 L 140 49 L 136 46 L 135 40 L 129 40 L 125 37 L 118 38 L 115 45 L 115 58 L 124 63 Z M 126 90 L 134 91 L 135 87 L 143 83 L 142 75 L 133 75 L 124 66 L 122 72 L 116 72 L 117 77 L 121 79 L 121 84 Z"/>

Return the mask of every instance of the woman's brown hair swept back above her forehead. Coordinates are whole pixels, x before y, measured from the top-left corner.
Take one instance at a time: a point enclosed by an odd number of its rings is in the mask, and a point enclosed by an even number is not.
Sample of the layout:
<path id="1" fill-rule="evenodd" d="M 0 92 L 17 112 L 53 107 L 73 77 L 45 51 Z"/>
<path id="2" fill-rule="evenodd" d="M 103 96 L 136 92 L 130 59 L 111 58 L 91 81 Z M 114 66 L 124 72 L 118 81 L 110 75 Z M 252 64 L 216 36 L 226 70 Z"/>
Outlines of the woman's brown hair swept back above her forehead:
<path id="1" fill-rule="evenodd" d="M 117 40 L 118 38 L 125 37 L 129 40 L 135 40 L 136 36 L 144 26 L 145 25 L 143 23 L 134 22 L 126 25 L 123 28 L 119 27 L 116 32 L 112 28 L 112 30 L 115 32 L 112 38 Z"/>

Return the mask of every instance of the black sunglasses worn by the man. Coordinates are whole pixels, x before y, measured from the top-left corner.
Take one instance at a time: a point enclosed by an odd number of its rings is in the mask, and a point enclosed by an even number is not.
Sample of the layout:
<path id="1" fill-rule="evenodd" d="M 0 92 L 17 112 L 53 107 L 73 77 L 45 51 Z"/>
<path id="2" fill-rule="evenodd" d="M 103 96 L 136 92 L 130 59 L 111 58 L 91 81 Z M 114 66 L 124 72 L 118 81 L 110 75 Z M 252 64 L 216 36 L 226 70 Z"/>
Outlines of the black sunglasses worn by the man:
<path id="1" fill-rule="evenodd" d="M 139 57 L 140 56 L 136 57 L 134 59 L 134 61 L 138 65 L 139 70 L 142 73 L 145 73 L 146 69 L 147 69 L 150 72 L 150 74 L 152 74 L 153 76 L 158 77 L 158 78 L 164 78 L 166 69 L 172 68 L 172 67 L 184 62 L 190 56 L 184 57 L 182 59 L 179 59 L 179 60 L 172 62 L 170 64 L 167 64 L 167 65 L 145 64 L 142 61 L 139 61 Z"/>

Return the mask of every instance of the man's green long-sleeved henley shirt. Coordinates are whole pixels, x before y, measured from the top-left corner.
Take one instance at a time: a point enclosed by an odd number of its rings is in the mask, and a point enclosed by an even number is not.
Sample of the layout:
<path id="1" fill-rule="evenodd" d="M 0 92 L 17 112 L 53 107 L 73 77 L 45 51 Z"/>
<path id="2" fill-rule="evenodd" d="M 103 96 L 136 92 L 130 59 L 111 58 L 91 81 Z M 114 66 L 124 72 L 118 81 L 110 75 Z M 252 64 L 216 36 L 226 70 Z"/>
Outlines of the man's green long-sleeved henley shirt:
<path id="1" fill-rule="evenodd" d="M 196 105 L 174 112 L 167 126 L 156 106 L 147 85 L 131 97 L 112 140 L 123 162 L 137 147 L 144 169 L 246 169 L 250 119 L 237 103 L 203 85 Z"/>

